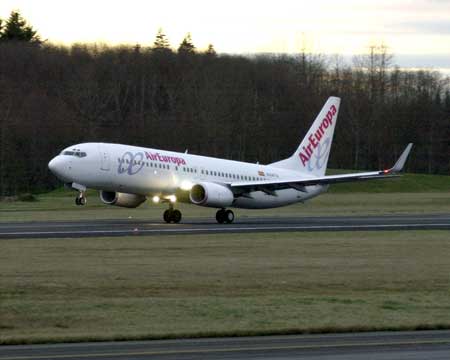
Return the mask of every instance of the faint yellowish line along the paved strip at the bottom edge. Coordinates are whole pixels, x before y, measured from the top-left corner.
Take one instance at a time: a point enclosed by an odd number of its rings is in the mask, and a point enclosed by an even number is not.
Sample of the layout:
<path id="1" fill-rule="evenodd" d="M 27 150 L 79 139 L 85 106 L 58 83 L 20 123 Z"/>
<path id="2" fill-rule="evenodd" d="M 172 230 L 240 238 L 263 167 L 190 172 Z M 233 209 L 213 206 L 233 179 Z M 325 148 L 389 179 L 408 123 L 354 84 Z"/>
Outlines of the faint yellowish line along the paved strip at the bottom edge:
<path id="1" fill-rule="evenodd" d="M 364 348 L 364 347 L 386 347 L 386 346 L 411 346 L 411 345 L 450 345 L 450 339 L 423 340 L 423 341 L 390 341 L 390 342 L 365 342 L 365 343 L 342 343 L 342 344 L 317 344 L 317 345 L 288 345 L 288 346 L 248 346 L 240 348 L 212 348 L 212 349 L 180 349 L 180 350 L 153 350 L 153 351 L 130 351 L 110 352 L 92 354 L 61 354 L 61 355 L 31 355 L 1 357 L 2 360 L 40 360 L 40 359 L 67 359 L 67 358 L 105 358 L 125 356 L 149 356 L 149 355 L 182 355 L 182 354 L 207 354 L 207 353 L 236 353 L 245 351 L 271 351 L 271 350 L 317 350 L 330 348 Z"/>

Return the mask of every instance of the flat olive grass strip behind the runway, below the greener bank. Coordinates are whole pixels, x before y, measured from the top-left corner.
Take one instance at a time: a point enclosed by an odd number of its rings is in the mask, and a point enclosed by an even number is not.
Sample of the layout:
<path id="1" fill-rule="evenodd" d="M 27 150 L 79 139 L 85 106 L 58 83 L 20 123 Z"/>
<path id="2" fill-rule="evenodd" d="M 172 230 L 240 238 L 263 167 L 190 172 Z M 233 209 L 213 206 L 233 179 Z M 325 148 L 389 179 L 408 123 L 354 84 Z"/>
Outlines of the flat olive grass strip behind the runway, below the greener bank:
<path id="1" fill-rule="evenodd" d="M 136 209 L 102 204 L 95 192 L 88 195 L 88 205 L 75 206 L 70 196 L 40 195 L 35 202 L 0 202 L 0 221 L 43 221 L 79 219 L 148 219 L 162 221 L 167 205 L 150 201 Z M 214 219 L 215 209 L 177 204 L 183 217 Z M 233 209 L 237 218 L 262 216 L 365 215 L 405 213 L 449 213 L 450 192 L 428 193 L 327 193 L 307 201 L 277 209 Z"/>

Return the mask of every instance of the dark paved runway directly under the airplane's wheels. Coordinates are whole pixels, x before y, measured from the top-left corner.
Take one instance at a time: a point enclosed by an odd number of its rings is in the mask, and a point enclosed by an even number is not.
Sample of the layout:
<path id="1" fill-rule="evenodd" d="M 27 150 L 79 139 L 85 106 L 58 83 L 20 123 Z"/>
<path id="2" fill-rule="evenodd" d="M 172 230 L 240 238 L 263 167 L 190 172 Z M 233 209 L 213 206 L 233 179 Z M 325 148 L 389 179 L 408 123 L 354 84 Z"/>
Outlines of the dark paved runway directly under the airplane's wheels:
<path id="1" fill-rule="evenodd" d="M 210 218 L 186 218 L 180 224 L 133 219 L 15 222 L 0 223 L 0 239 L 380 230 L 450 230 L 450 214 L 249 217 L 233 224 Z"/>

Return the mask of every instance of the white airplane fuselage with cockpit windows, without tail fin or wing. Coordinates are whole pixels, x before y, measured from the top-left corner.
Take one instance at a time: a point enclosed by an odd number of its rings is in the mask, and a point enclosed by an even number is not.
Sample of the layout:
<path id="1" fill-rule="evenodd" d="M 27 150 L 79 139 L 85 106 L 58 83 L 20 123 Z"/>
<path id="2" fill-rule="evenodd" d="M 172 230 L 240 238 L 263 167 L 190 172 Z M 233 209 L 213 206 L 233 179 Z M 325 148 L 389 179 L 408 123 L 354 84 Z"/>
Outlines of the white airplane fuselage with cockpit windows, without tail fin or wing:
<path id="1" fill-rule="evenodd" d="M 65 183 L 161 199 L 180 194 L 180 189 L 187 193 L 196 183 L 262 182 L 299 176 L 297 171 L 268 165 L 108 143 L 70 146 L 49 163 L 49 168 Z M 311 176 L 305 174 L 304 177 Z M 303 191 L 276 190 L 274 194 L 254 191 L 237 197 L 231 206 L 247 209 L 279 207 L 305 201 L 327 188 L 326 185 L 314 185 Z M 188 196 L 177 196 L 177 200 L 190 202 Z"/>

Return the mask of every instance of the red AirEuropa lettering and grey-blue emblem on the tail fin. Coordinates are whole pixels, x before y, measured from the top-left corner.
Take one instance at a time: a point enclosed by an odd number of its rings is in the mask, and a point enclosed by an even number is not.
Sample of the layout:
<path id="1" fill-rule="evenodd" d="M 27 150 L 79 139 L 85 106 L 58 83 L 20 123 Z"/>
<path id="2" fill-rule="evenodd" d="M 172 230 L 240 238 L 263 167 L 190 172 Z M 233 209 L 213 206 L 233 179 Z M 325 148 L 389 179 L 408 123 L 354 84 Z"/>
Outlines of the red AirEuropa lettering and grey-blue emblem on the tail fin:
<path id="1" fill-rule="evenodd" d="M 318 129 L 308 136 L 308 144 L 303 146 L 303 151 L 300 150 L 298 156 L 300 157 L 303 166 L 308 164 L 308 171 L 321 169 L 325 165 L 326 159 L 328 159 L 331 137 L 324 138 L 324 136 L 327 129 L 333 125 L 336 113 L 336 106 L 331 105 Z M 314 164 L 312 164 L 312 159 L 315 159 Z"/>

